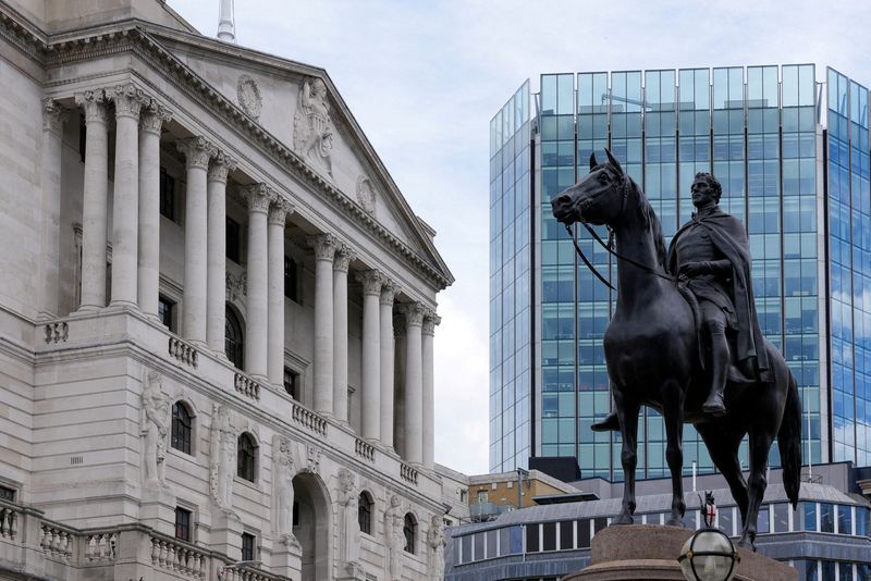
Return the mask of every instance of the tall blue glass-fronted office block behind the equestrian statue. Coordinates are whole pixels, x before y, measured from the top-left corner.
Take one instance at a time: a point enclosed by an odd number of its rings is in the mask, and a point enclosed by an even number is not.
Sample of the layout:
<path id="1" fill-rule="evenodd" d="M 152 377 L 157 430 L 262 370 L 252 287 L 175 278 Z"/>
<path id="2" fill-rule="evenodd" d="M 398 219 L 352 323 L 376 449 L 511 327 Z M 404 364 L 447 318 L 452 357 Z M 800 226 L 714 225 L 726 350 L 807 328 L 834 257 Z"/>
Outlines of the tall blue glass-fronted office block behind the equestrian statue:
<path id="1" fill-rule="evenodd" d="M 746 224 L 762 331 L 805 411 L 805 462 L 871 465 L 868 89 L 813 64 L 547 74 L 490 124 L 490 469 L 574 456 L 622 479 L 602 334 L 615 296 L 576 257 L 549 200 L 610 148 L 643 188 L 666 243 L 692 211 L 696 172 Z M 576 228 L 596 268 L 613 260 Z M 638 469 L 667 471 L 661 417 L 643 411 Z M 685 470 L 711 459 L 691 427 Z M 746 462 L 746 448 L 741 449 Z M 777 452 L 771 458 L 777 463 Z"/>

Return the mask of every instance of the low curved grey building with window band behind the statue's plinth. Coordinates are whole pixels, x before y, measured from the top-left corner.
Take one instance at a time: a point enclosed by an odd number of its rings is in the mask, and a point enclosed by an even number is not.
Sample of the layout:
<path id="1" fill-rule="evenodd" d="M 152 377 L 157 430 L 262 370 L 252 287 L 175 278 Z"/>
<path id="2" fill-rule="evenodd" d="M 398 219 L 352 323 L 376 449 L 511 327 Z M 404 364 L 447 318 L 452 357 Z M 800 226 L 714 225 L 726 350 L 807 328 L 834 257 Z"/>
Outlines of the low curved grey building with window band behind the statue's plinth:
<path id="1" fill-rule="evenodd" d="M 814 467 L 813 482 L 801 484 L 797 510 L 787 502 L 781 475 L 771 470 L 757 522 L 758 551 L 795 567 L 800 581 L 871 579 L 871 497 L 860 486 L 871 477 L 869 469 L 850 462 Z M 623 484 L 592 478 L 571 486 L 576 494 L 564 495 L 559 504 L 553 497 L 550 504 L 505 512 L 489 522 L 449 529 L 445 579 L 557 581 L 589 566 L 591 540 L 618 512 Z M 713 524 L 737 542 L 740 514 L 720 474 L 688 477 L 684 490 L 686 528 L 703 524 L 701 491 L 712 491 Z M 671 479 L 640 481 L 636 492 L 636 522 L 663 524 L 671 510 Z M 590 499 L 577 502 L 580 494 Z"/>

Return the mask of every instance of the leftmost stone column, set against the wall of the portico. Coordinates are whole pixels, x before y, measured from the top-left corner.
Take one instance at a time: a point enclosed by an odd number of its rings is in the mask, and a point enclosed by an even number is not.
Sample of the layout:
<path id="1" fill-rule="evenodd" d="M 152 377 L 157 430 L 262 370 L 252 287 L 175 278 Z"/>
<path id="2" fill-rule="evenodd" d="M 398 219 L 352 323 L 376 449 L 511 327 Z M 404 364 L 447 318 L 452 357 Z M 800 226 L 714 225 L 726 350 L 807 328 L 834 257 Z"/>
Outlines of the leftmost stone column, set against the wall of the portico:
<path id="1" fill-rule="evenodd" d="M 42 223 L 39 259 L 39 317 L 50 319 L 58 312 L 61 246 L 61 151 L 66 111 L 53 99 L 42 101 Z"/>

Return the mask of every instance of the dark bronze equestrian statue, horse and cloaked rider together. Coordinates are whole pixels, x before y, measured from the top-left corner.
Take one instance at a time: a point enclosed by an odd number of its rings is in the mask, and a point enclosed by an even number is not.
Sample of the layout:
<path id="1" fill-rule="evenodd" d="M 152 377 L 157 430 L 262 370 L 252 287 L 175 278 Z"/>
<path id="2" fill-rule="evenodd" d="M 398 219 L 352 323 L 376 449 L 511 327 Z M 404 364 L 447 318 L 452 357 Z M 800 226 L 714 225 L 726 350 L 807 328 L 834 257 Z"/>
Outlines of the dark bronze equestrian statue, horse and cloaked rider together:
<path id="1" fill-rule="evenodd" d="M 697 212 L 666 254 L 659 219 L 641 188 L 606 153 L 603 164 L 590 157 L 590 173 L 551 205 L 566 225 L 606 224 L 617 245 L 617 305 L 603 339 L 615 410 L 597 424 L 623 435 L 626 482 L 622 511 L 612 522 L 633 522 L 638 413 L 645 405 L 665 422 L 672 473 L 666 524 L 683 526 L 683 424 L 691 422 L 741 512 L 739 544 L 752 546 L 775 436 L 786 494 L 794 507 L 798 502 L 801 403 L 786 361 L 759 330 L 747 235 L 719 208 L 716 180 L 697 174 Z M 749 482 L 738 461 L 746 434 Z"/>

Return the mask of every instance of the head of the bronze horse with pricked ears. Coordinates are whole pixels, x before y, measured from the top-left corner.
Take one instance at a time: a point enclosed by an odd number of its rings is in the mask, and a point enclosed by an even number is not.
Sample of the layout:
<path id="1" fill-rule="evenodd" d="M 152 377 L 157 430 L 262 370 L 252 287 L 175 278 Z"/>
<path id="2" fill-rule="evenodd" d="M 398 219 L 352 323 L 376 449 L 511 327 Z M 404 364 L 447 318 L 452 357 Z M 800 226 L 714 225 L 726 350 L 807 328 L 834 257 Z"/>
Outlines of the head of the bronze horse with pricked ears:
<path id="1" fill-rule="evenodd" d="M 590 156 L 590 173 L 551 200 L 553 215 L 563 224 L 610 224 L 622 212 L 628 194 L 628 177 L 611 151 L 601 165 Z"/>

